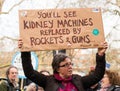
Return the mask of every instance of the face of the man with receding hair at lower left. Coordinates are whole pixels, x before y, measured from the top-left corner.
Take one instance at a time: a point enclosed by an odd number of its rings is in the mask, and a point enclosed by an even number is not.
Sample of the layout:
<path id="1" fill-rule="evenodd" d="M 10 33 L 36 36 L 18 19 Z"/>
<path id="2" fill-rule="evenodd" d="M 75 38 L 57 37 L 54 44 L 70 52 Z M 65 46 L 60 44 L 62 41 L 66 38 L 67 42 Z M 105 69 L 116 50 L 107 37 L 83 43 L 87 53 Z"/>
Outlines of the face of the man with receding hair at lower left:
<path id="1" fill-rule="evenodd" d="M 11 68 L 8 74 L 8 78 L 10 79 L 10 81 L 15 81 L 17 79 L 17 76 L 18 70 L 16 68 Z"/>

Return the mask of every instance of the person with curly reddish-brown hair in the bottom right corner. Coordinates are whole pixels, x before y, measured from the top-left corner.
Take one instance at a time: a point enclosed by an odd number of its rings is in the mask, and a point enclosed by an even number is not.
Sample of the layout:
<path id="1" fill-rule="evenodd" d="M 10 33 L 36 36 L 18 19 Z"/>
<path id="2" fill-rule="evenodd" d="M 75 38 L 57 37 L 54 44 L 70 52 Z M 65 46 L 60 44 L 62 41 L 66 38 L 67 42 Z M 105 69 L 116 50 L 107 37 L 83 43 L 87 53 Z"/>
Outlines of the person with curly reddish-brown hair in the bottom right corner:
<path id="1" fill-rule="evenodd" d="M 98 91 L 120 91 L 119 75 L 115 71 L 106 70 Z"/>

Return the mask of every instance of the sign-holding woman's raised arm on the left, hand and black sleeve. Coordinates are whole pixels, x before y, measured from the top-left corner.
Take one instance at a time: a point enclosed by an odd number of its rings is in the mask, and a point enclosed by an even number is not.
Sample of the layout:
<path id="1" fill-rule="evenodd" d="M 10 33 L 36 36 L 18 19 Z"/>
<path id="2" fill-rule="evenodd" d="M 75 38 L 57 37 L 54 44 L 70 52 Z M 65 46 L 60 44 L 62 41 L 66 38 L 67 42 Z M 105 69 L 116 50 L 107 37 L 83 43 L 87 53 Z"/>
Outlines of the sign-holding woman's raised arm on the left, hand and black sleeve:
<path id="1" fill-rule="evenodd" d="M 23 45 L 22 39 L 19 39 L 18 47 L 21 48 L 22 45 Z M 38 71 L 33 69 L 30 52 L 21 52 L 21 58 L 25 76 L 29 78 L 32 82 L 35 82 L 39 86 L 44 87 L 46 83 L 46 76 L 40 74 Z"/>

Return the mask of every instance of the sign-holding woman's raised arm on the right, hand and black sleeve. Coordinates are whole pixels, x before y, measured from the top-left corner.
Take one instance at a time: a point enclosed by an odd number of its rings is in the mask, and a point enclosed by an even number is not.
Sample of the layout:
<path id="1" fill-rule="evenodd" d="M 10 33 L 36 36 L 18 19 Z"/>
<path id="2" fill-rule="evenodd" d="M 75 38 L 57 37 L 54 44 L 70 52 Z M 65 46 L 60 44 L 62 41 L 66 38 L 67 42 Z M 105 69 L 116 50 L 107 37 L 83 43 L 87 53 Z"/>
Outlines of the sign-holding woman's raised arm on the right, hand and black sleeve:
<path id="1" fill-rule="evenodd" d="M 98 52 L 96 54 L 96 67 L 94 74 L 82 77 L 82 82 L 85 89 L 98 83 L 104 76 L 106 65 L 105 52 L 108 48 L 107 42 L 103 42 L 102 46 L 102 48 L 98 48 Z"/>

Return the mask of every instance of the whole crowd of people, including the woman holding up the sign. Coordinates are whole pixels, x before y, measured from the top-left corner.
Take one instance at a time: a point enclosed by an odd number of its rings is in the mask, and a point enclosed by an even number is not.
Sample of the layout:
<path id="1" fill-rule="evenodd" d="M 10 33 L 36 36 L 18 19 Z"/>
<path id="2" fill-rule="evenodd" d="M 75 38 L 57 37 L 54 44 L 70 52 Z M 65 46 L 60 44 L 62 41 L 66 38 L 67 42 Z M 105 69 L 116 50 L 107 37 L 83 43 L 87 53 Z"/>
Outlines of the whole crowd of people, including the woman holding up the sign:
<path id="1" fill-rule="evenodd" d="M 18 47 L 21 48 L 22 44 L 22 40 L 19 40 Z M 50 74 L 46 70 L 34 70 L 30 52 L 21 52 L 23 70 L 31 83 L 21 90 L 18 69 L 10 66 L 6 71 L 7 80 L 0 83 L 0 91 L 120 91 L 119 74 L 105 69 L 108 44 L 103 42 L 102 45 L 96 53 L 94 70 L 85 76 L 73 74 L 73 62 L 66 53 L 53 55 L 53 74 Z"/>

